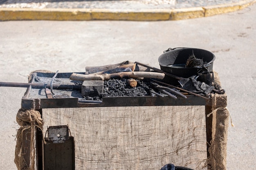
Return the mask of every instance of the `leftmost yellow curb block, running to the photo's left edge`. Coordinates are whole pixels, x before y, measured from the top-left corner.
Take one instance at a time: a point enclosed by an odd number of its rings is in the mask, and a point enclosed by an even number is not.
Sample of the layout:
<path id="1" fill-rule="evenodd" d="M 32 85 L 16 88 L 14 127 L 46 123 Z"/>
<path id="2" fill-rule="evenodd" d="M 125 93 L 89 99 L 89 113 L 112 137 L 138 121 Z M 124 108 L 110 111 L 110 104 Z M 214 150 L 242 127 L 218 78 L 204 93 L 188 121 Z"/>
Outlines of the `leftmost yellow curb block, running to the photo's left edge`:
<path id="1" fill-rule="evenodd" d="M 92 20 L 88 9 L 0 9 L 0 20 Z"/>

